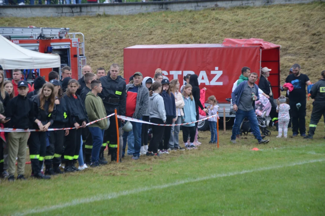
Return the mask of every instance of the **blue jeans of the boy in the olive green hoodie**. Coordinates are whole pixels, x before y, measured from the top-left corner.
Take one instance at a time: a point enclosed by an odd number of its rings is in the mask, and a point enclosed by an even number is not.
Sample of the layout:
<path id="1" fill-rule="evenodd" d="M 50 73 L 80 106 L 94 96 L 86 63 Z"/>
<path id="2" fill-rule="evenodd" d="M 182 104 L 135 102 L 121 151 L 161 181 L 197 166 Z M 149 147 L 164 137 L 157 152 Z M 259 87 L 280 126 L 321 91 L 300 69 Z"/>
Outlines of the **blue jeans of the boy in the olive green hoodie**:
<path id="1" fill-rule="evenodd" d="M 103 144 L 104 130 L 99 127 L 88 127 L 91 137 L 93 138 L 93 148 L 91 149 L 91 162 L 95 163 L 99 160 L 100 147 Z"/>

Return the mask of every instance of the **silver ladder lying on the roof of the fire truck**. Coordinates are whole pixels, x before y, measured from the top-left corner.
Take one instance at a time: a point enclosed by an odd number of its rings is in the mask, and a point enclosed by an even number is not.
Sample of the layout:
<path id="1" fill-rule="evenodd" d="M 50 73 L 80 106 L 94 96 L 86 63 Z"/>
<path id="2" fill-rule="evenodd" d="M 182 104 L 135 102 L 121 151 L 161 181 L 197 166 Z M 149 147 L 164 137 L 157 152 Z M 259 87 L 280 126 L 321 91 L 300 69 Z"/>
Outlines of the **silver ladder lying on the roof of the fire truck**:
<path id="1" fill-rule="evenodd" d="M 0 34 L 9 40 L 13 39 L 62 39 L 69 32 L 69 28 L 15 28 L 0 27 Z"/>

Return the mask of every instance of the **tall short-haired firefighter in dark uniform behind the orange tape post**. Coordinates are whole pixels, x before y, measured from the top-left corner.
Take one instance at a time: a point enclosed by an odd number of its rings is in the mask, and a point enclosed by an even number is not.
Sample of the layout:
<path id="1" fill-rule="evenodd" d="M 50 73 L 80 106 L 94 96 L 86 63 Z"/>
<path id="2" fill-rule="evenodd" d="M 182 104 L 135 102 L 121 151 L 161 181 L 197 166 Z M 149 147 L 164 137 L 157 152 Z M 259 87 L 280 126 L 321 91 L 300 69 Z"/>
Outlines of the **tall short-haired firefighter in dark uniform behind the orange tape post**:
<path id="1" fill-rule="evenodd" d="M 106 114 L 114 113 L 116 108 L 117 114 L 125 116 L 126 108 L 126 83 L 124 79 L 119 76 L 120 66 L 112 64 L 110 66 L 110 73 L 107 76 L 101 77 L 99 80 L 102 83 L 103 91 L 100 97 L 106 110 Z M 122 120 L 122 122 L 124 122 Z M 121 120 L 118 121 L 118 126 L 121 127 Z M 111 161 L 117 160 L 117 134 L 116 134 L 115 116 L 110 117 L 110 127 L 104 133 L 104 140 L 107 141 Z M 102 151 L 102 150 L 101 150 Z"/>

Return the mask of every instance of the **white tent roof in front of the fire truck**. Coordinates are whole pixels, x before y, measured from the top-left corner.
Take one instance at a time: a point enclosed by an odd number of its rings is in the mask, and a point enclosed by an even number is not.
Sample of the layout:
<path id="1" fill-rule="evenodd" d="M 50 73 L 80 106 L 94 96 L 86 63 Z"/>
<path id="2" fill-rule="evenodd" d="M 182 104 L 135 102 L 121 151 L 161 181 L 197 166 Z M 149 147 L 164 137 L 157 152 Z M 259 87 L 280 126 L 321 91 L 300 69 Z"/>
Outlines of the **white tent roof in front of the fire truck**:
<path id="1" fill-rule="evenodd" d="M 25 49 L 0 35 L 0 65 L 5 70 L 60 68 L 58 54 L 45 54 Z"/>

